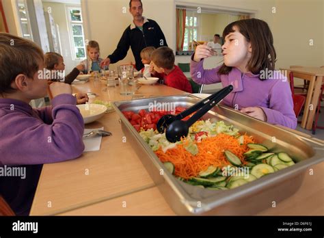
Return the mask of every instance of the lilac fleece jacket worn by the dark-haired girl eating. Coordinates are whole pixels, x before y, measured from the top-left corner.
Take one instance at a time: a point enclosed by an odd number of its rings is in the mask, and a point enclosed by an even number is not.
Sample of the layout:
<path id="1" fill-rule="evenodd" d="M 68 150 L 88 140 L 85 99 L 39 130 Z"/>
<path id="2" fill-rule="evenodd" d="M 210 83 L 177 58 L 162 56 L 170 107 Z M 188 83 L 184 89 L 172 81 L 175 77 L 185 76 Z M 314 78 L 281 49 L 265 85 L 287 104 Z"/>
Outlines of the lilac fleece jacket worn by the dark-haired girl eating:
<path id="1" fill-rule="evenodd" d="M 193 81 L 200 84 L 221 83 L 223 87 L 232 84 L 234 90 L 224 98 L 222 103 L 228 107 L 260 107 L 267 115 L 267 122 L 281 124 L 295 129 L 297 118 L 293 111 L 293 97 L 286 77 L 284 79 L 260 80 L 260 75 L 251 72 L 243 74 L 232 68 L 228 75 L 218 75 L 219 67 L 204 70 L 204 60 L 194 62 L 191 59 L 190 72 Z M 283 77 L 283 75 L 281 75 Z"/>

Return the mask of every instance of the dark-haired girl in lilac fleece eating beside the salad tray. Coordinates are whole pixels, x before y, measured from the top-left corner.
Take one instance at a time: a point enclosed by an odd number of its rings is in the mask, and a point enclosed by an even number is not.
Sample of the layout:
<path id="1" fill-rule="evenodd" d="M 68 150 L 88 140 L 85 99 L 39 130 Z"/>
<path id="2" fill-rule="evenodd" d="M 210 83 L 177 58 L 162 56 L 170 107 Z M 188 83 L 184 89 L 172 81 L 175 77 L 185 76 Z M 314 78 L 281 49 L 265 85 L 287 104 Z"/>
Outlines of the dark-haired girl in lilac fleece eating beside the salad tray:
<path id="1" fill-rule="evenodd" d="M 273 36 L 265 21 L 255 18 L 230 23 L 223 32 L 224 64 L 205 70 L 204 59 L 213 53 L 199 45 L 191 57 L 193 81 L 200 84 L 229 84 L 234 90 L 223 104 L 271 124 L 295 129 L 297 118 L 286 77 L 275 70 Z M 267 72 L 272 72 L 267 75 Z M 271 75 L 273 75 L 271 77 Z"/>

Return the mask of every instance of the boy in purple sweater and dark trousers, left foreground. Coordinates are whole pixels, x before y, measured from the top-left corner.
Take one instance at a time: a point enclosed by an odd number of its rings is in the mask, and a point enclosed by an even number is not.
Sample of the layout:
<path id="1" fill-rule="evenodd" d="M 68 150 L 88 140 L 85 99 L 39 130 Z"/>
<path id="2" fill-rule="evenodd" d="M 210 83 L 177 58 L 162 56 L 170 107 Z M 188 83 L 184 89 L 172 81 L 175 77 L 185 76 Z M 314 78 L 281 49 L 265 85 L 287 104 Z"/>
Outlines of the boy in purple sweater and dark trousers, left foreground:
<path id="1" fill-rule="evenodd" d="M 53 82 L 52 105 L 32 109 L 47 94 L 44 54 L 33 42 L 0 33 L 0 166 L 18 167 L 18 176 L 1 176 L 0 194 L 16 215 L 28 215 L 43 163 L 82 155 L 83 118 L 69 84 Z"/>

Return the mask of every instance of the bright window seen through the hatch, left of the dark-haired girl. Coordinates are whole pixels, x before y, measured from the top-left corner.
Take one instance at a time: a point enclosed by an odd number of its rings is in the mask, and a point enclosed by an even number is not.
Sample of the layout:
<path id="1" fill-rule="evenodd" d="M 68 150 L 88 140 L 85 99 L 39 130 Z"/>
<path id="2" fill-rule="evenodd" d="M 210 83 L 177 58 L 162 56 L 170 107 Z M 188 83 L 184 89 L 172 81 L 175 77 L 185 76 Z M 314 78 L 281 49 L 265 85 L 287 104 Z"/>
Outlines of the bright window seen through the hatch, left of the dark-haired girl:
<path id="1" fill-rule="evenodd" d="M 193 40 L 198 40 L 198 16 L 195 16 L 195 12 L 187 11 L 185 40 L 183 42 L 184 51 L 189 51 L 192 49 Z"/>

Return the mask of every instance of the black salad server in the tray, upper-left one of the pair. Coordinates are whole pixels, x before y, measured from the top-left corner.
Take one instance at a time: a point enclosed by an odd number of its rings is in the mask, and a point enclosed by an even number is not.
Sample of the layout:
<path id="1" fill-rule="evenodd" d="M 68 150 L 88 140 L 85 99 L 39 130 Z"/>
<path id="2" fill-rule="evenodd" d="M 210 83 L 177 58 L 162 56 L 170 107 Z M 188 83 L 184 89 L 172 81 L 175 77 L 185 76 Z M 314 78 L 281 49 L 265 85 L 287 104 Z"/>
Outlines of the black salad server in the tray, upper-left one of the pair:
<path id="1" fill-rule="evenodd" d="M 172 122 L 174 122 L 175 120 L 181 120 L 181 119 L 185 118 L 186 116 L 189 116 L 193 112 L 200 109 L 202 106 L 206 105 L 206 103 L 211 101 L 211 99 L 214 98 L 215 96 L 217 96 L 220 92 L 221 92 L 221 90 L 211 94 L 211 96 L 208 96 L 207 98 L 204 98 L 199 103 L 196 103 L 195 105 L 192 105 L 187 110 L 181 112 L 180 114 L 178 114 L 176 116 L 174 116 L 172 114 L 167 114 L 165 116 L 162 116 L 160 118 L 160 120 L 157 122 L 157 131 L 159 131 L 159 133 L 164 133 L 164 131 L 167 129 L 167 127 L 170 126 L 170 124 Z"/>

